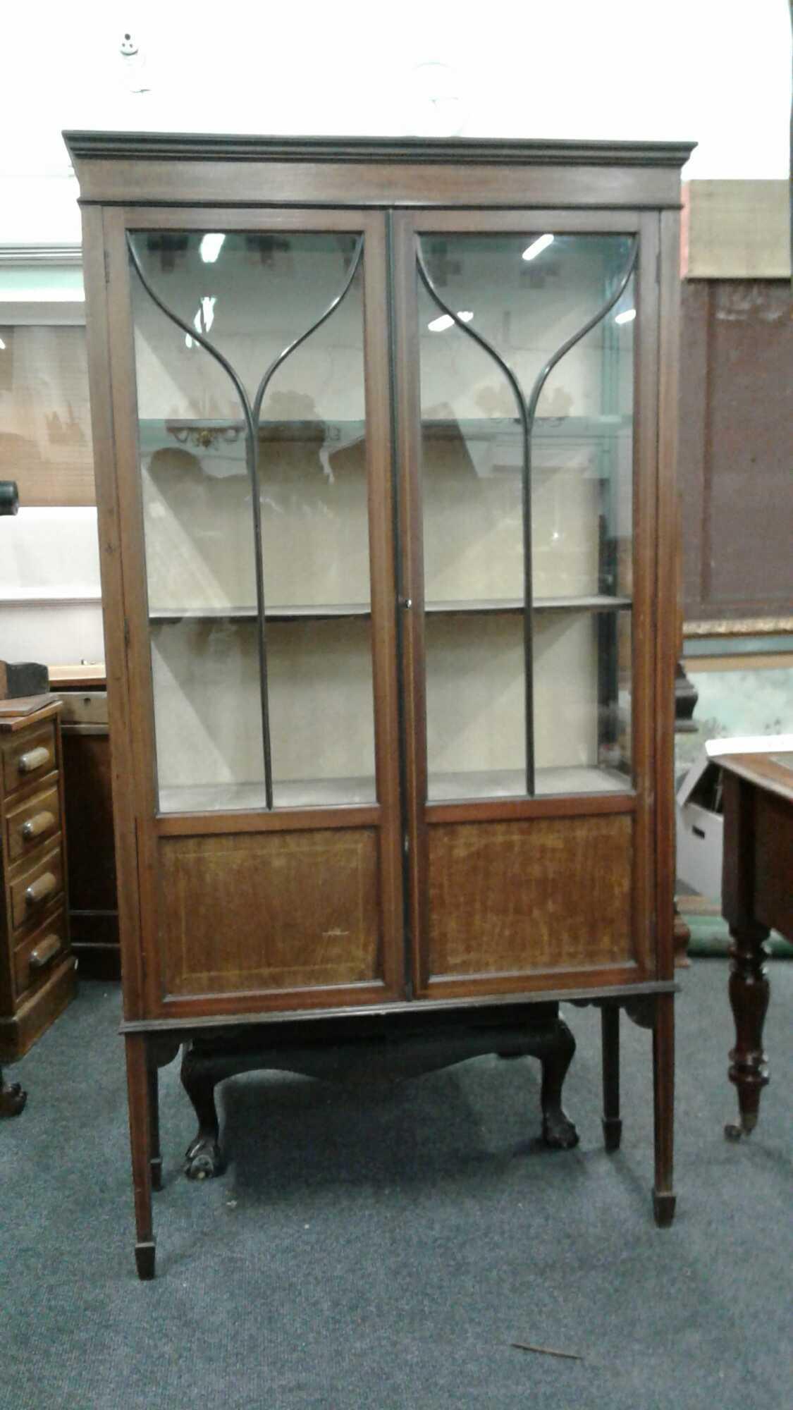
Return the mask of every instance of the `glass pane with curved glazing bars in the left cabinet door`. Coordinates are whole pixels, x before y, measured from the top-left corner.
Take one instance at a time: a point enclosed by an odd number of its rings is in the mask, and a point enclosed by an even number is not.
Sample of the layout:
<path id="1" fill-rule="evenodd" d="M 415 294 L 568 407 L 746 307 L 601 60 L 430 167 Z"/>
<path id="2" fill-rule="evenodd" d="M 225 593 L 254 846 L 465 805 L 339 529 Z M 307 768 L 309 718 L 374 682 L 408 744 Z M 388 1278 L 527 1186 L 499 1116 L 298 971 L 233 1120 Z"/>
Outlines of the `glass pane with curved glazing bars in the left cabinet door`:
<path id="1" fill-rule="evenodd" d="M 161 808 L 374 798 L 360 241 L 131 248 Z"/>

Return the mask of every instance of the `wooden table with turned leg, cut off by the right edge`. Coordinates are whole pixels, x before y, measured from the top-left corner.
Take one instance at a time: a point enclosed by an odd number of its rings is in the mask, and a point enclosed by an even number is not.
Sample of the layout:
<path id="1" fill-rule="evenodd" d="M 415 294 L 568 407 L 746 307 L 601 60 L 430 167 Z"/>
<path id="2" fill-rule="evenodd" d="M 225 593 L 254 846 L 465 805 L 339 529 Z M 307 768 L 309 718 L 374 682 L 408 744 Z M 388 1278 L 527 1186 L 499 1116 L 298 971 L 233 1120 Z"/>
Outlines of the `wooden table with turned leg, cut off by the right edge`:
<path id="1" fill-rule="evenodd" d="M 766 939 L 793 939 L 793 752 L 725 754 L 722 912 L 730 925 L 730 1003 L 735 1048 L 730 1080 L 738 1089 L 738 1139 L 758 1124 L 768 1083 L 763 1024 L 769 1003 Z"/>

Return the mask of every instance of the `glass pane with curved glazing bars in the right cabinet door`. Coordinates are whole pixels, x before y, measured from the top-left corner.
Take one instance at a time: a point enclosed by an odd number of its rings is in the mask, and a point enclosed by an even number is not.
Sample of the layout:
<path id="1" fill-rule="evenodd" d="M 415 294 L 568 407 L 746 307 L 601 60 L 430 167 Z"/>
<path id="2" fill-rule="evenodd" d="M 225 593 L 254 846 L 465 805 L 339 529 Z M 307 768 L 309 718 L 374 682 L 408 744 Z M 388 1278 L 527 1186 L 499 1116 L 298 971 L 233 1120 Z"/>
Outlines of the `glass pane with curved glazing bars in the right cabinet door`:
<path id="1" fill-rule="evenodd" d="M 535 767 L 562 767 L 564 750 L 564 767 L 605 767 L 597 643 L 604 608 L 631 606 L 631 259 L 625 235 L 419 238 L 430 798 L 525 794 Z M 556 670 L 573 692 L 574 737 L 546 704 L 556 697 L 542 677 Z M 550 778 L 538 774 L 536 790 L 557 791 Z M 625 785 L 622 773 L 605 783 Z"/>

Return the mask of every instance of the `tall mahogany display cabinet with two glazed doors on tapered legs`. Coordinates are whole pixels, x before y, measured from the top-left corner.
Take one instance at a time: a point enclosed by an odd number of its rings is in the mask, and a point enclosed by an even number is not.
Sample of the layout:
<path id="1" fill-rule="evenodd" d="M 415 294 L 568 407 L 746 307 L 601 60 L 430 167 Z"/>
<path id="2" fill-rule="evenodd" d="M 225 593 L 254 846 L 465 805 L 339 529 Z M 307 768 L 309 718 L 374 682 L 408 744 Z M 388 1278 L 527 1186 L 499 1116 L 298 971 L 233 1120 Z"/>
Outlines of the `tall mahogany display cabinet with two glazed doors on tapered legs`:
<path id="1" fill-rule="evenodd" d="M 80 183 L 137 1265 L 253 1067 L 652 1029 L 672 1220 L 686 144 L 65 134 Z M 518 1080 L 518 1072 L 515 1072 Z"/>

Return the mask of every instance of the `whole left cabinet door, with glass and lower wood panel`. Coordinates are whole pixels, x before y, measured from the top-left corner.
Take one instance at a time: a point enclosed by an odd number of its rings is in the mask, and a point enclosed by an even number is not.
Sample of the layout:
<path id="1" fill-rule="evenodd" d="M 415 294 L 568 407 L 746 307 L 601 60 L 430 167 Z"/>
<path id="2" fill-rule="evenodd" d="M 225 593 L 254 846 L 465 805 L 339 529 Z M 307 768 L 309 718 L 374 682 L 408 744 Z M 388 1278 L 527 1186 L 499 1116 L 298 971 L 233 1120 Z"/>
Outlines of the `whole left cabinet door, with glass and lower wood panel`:
<path id="1" fill-rule="evenodd" d="M 382 1001 L 402 987 L 382 217 L 130 209 L 106 240 L 148 1008 Z"/>

